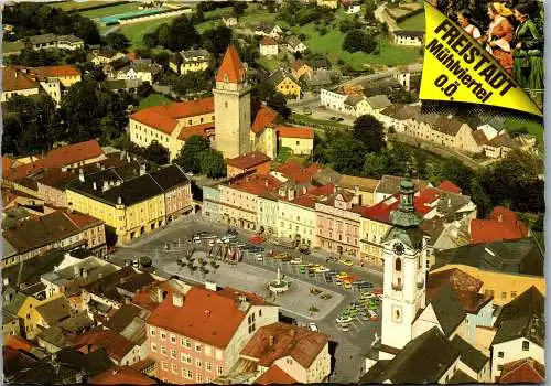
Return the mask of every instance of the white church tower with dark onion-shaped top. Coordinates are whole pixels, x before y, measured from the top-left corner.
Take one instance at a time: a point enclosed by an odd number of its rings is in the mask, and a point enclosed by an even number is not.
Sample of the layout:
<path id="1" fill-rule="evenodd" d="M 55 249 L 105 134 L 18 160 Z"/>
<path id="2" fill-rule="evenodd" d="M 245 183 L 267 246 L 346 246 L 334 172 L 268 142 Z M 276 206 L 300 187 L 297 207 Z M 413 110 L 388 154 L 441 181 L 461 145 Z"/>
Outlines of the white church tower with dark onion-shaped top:
<path id="1" fill-rule="evenodd" d="M 414 185 L 400 183 L 398 211 L 390 213 L 392 228 L 382 240 L 385 258 L 381 344 L 402 349 L 411 341 L 413 321 L 425 307 L 426 239 L 413 206 Z"/>

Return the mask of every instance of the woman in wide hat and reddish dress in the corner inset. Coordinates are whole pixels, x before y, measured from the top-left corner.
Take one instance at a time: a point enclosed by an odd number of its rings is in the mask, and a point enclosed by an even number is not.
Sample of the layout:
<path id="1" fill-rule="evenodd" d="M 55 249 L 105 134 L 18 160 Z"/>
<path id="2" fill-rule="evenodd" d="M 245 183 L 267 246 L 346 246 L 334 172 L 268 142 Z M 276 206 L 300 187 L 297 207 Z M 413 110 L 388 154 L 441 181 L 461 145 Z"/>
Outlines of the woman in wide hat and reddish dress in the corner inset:
<path id="1" fill-rule="evenodd" d="M 486 44 L 486 50 L 494 55 L 496 61 L 510 74 L 512 72 L 512 25 L 507 19 L 512 11 L 500 2 L 488 3 L 488 17 L 491 20 L 486 35 L 479 39 Z"/>

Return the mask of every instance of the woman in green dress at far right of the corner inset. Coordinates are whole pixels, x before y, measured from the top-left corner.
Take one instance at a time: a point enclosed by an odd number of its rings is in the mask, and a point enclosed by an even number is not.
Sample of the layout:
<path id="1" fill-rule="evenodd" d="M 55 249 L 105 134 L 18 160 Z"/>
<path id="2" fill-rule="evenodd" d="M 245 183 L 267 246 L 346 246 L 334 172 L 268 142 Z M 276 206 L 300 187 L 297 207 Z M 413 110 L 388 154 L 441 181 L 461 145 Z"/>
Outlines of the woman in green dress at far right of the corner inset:
<path id="1" fill-rule="evenodd" d="M 532 99 L 541 104 L 543 98 L 543 40 L 536 23 L 530 19 L 529 4 L 515 7 L 515 60 L 512 75 Z"/>

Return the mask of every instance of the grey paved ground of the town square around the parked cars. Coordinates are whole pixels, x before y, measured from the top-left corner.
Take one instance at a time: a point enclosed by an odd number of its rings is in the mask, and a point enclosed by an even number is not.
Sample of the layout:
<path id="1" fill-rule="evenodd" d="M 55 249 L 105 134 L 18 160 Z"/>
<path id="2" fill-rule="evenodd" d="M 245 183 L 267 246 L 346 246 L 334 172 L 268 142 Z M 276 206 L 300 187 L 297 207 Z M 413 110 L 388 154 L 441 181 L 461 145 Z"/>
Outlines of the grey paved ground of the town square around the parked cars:
<path id="1" fill-rule="evenodd" d="M 203 219 L 201 216 L 190 216 L 180 218 L 164 228 L 153 234 L 143 236 L 129 246 L 120 247 L 110 256 L 110 260 L 118 264 L 123 264 L 125 259 L 136 259 L 142 255 L 148 255 L 152 258 L 153 265 L 158 274 L 171 277 L 179 275 L 184 279 L 193 279 L 196 282 L 203 282 L 205 278 L 201 274 L 191 274 L 187 269 L 182 270 L 175 262 L 177 258 L 183 257 L 187 245 L 187 239 L 197 232 L 213 232 L 223 234 L 226 226 L 215 224 Z M 246 240 L 249 234 L 240 232 L 239 237 Z M 180 244 L 179 244 L 180 239 Z M 172 251 L 166 251 L 166 242 L 171 242 Z M 179 247 L 180 245 L 180 247 Z M 266 249 L 273 249 L 276 253 L 284 250 L 281 247 L 264 245 Z M 292 255 L 299 255 L 293 251 Z M 380 287 L 382 283 L 382 274 L 380 267 L 345 267 L 338 262 L 326 261 L 327 258 L 334 258 L 333 255 L 324 251 L 314 250 L 312 255 L 304 256 L 305 261 L 321 262 L 324 266 L 336 269 L 338 271 L 347 271 L 350 275 L 356 275 L 359 278 L 371 281 L 374 286 Z M 322 275 L 317 277 L 307 277 L 306 275 L 298 274 L 294 267 L 285 264 L 281 266 L 282 272 L 292 281 L 291 286 L 296 288 L 296 293 L 290 292 L 290 299 L 282 301 L 284 304 L 281 309 L 283 314 L 296 319 L 299 322 L 311 322 L 314 320 L 320 331 L 327 333 L 331 340 L 335 342 L 336 349 L 334 352 L 335 366 L 331 376 L 331 382 L 334 383 L 356 383 L 360 376 L 360 368 L 364 366 L 364 356 L 369 351 L 374 341 L 375 333 L 380 335 L 380 324 L 378 322 L 355 321 L 350 326 L 349 332 L 341 332 L 336 328 L 335 319 L 343 309 L 355 298 L 356 292 L 337 288 L 334 285 L 325 282 Z M 244 257 L 244 262 L 235 267 L 220 264 L 219 270 L 213 277 L 217 282 L 234 285 L 239 287 L 245 280 L 256 281 L 257 285 L 249 283 L 250 288 L 256 289 L 258 283 L 264 279 L 251 279 L 253 276 L 263 278 L 276 278 L 277 265 L 273 259 L 267 258 L 264 261 L 257 261 L 255 258 Z M 209 274 L 207 274 L 208 277 Z M 255 287 L 257 286 L 257 287 Z M 321 300 L 313 300 L 314 297 L 306 291 L 312 288 L 320 288 L 324 292 L 333 294 L 332 301 L 324 308 Z M 245 288 L 247 289 L 247 288 Z M 257 290 L 259 291 L 259 290 Z M 284 296 L 283 296 L 284 297 Z M 276 303 L 280 303 L 281 299 L 277 299 Z M 320 308 L 318 315 L 310 315 L 304 312 L 312 303 Z M 305 307 L 307 305 L 307 307 Z"/>

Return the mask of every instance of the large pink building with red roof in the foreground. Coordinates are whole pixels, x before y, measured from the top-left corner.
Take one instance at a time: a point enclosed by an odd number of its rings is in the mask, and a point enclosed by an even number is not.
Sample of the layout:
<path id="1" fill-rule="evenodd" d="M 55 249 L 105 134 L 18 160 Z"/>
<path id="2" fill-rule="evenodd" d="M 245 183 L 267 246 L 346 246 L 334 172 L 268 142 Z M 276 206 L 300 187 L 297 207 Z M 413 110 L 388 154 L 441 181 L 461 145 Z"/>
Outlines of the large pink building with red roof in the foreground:
<path id="1" fill-rule="evenodd" d="M 170 384 L 210 383 L 229 373 L 259 328 L 277 321 L 278 307 L 251 293 L 210 283 L 172 292 L 147 322 L 155 376 Z"/>

